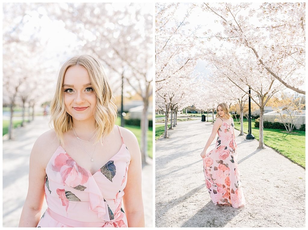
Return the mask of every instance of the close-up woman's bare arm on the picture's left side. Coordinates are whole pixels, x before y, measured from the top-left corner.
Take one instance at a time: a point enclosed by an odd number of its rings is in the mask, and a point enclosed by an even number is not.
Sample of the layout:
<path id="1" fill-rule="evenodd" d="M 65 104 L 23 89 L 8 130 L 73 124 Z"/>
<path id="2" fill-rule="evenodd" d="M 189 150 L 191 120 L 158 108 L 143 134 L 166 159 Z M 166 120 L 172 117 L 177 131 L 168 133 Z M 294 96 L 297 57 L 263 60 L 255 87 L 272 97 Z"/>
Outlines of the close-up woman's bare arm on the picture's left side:
<path id="1" fill-rule="evenodd" d="M 48 133 L 49 132 L 49 133 Z M 29 164 L 29 188 L 25 204 L 19 220 L 19 227 L 36 227 L 40 218 L 44 201 L 45 167 L 54 146 L 48 131 L 41 135 L 32 148 Z M 46 146 L 48 145 L 48 148 Z M 49 151 L 48 151 L 49 150 Z M 47 162 L 46 162 L 47 161 Z"/>

